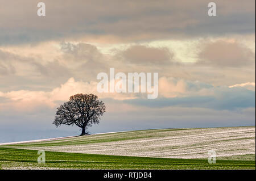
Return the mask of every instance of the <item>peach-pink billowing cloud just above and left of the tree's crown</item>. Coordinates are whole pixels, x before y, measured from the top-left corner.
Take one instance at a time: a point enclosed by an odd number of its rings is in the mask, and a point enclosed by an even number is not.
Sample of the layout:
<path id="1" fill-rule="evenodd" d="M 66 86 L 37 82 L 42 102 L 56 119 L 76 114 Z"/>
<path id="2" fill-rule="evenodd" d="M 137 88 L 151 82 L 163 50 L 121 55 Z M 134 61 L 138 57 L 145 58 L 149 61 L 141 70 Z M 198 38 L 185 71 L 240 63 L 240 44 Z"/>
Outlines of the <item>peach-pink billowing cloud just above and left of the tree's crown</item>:
<path id="1" fill-rule="evenodd" d="M 0 103 L 0 110 L 16 111 L 35 111 L 40 107 L 55 108 L 60 103 L 65 102 L 70 96 L 75 94 L 95 94 L 99 98 L 112 99 L 131 99 L 136 98 L 138 94 L 118 94 L 118 93 L 101 93 L 97 92 L 97 82 L 75 81 L 74 78 L 69 78 L 67 82 L 56 87 L 51 91 L 30 91 L 18 90 L 9 92 L 0 92 L 0 98 L 3 101 Z"/>

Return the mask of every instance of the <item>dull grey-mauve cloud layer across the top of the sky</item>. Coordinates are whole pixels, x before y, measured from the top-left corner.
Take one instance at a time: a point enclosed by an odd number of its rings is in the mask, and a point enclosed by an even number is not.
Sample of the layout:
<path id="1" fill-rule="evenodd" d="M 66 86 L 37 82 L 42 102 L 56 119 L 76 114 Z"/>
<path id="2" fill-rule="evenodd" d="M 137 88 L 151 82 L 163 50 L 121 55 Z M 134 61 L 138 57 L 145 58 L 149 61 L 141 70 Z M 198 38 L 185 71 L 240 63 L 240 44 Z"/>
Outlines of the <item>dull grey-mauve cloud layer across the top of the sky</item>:
<path id="1" fill-rule="evenodd" d="M 94 39 L 134 42 L 186 39 L 255 32 L 255 1 L 215 1 L 217 17 L 207 14 L 204 1 L 49 1 L 46 16 L 36 15 L 36 2 L 1 2 L 0 45 L 47 40 Z M 234 20 L 236 19 L 236 20 Z M 58 23 L 56 23 L 58 22 Z"/>

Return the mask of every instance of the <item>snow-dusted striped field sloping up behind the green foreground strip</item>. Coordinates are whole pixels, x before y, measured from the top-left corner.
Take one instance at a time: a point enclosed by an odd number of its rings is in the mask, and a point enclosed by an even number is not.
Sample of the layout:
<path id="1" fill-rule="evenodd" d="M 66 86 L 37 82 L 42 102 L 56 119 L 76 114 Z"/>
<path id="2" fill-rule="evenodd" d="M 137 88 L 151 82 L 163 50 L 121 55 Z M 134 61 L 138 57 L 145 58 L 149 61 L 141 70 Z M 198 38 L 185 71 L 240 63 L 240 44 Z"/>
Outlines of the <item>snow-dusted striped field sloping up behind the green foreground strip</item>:
<path id="1" fill-rule="evenodd" d="M 255 159 L 255 127 L 158 129 L 27 142 L 12 148 L 162 158 Z"/>

